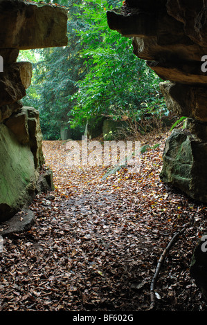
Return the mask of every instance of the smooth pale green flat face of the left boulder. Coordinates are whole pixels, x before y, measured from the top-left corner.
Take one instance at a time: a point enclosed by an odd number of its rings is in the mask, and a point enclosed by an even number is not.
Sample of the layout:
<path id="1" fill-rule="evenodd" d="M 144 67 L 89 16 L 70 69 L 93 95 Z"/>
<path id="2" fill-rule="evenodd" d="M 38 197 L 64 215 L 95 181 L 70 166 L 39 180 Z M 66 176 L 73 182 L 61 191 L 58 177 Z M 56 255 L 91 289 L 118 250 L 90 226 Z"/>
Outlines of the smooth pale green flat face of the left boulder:
<path id="1" fill-rule="evenodd" d="M 7 220 L 35 196 L 39 173 L 35 171 L 29 145 L 21 145 L 15 135 L 0 124 L 0 222 Z"/>

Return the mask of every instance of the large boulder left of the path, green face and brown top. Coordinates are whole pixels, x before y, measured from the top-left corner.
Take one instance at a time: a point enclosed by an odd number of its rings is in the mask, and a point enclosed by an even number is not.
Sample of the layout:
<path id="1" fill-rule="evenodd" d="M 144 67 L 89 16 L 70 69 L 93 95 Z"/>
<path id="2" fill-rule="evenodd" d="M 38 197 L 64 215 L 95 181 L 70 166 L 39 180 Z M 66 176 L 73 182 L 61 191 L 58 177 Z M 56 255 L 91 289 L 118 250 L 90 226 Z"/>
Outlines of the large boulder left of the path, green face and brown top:
<path id="1" fill-rule="evenodd" d="M 37 193 L 54 187 L 51 170 L 42 170 L 42 132 L 36 109 L 24 106 L 1 123 L 0 144 L 1 222 L 28 205 Z"/>

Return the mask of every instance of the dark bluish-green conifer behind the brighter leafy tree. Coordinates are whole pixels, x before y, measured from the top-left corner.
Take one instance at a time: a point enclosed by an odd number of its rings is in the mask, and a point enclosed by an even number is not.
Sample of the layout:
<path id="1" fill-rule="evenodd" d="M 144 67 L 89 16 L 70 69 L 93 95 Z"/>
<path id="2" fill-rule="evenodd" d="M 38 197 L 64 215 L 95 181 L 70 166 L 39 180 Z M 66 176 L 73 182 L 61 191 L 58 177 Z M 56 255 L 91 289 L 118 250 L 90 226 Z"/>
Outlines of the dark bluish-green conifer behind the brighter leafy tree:
<path id="1" fill-rule="evenodd" d="M 33 83 L 23 102 L 39 110 L 42 133 L 47 140 L 60 138 L 60 126 L 68 121 L 67 113 L 73 107 L 73 102 L 69 99 L 78 90 L 77 82 L 85 73 L 84 59 L 79 54 L 82 45 L 76 32 L 82 28 L 82 21 L 76 17 L 79 8 L 74 6 L 81 2 L 82 0 L 58 1 L 69 9 L 67 46 L 22 51 L 20 56 L 22 59 L 22 56 L 27 58 L 31 53 L 36 54 L 36 60 L 33 61 Z"/>

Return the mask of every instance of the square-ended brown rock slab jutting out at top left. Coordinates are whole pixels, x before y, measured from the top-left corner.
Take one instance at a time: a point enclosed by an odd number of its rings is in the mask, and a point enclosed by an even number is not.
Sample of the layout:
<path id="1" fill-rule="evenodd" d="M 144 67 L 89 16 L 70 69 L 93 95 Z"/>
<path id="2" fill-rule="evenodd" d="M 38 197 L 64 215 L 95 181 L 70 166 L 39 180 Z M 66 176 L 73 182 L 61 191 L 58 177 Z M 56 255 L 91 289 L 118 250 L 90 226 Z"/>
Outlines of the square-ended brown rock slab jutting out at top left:
<path id="1" fill-rule="evenodd" d="M 23 0 L 0 1 L 0 47 L 66 46 L 65 8 Z"/>

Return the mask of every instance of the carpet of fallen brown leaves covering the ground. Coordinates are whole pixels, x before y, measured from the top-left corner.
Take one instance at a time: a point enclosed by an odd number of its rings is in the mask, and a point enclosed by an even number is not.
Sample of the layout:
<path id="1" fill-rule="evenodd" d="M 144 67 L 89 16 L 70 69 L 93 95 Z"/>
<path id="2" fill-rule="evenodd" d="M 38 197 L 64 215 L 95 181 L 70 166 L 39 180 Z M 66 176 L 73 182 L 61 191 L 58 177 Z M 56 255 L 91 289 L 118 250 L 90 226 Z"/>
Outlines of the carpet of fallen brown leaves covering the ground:
<path id="1" fill-rule="evenodd" d="M 37 196 L 36 223 L 4 238 L 1 310 L 147 310 L 163 249 L 182 225 L 156 284 L 158 310 L 204 310 L 189 274 L 206 230 L 206 205 L 161 182 L 167 134 L 150 141 L 141 170 L 102 176 L 105 167 L 66 167 L 66 144 L 45 141 L 55 191 Z M 143 139 L 146 142 L 146 139 Z"/>

